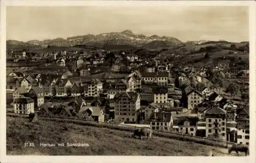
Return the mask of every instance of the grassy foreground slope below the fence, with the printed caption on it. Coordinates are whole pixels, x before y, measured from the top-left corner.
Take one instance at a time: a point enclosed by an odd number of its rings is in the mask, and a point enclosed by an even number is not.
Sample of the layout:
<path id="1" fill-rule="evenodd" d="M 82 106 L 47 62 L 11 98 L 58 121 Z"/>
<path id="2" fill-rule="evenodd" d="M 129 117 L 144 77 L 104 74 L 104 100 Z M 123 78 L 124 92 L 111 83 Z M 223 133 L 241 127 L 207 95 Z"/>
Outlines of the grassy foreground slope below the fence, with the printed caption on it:
<path id="1" fill-rule="evenodd" d="M 35 147 L 24 147 L 24 142 Z M 88 143 L 90 147 L 39 147 L 39 143 Z M 7 155 L 227 155 L 227 149 L 154 137 L 133 139 L 130 132 L 73 123 L 7 117 Z"/>

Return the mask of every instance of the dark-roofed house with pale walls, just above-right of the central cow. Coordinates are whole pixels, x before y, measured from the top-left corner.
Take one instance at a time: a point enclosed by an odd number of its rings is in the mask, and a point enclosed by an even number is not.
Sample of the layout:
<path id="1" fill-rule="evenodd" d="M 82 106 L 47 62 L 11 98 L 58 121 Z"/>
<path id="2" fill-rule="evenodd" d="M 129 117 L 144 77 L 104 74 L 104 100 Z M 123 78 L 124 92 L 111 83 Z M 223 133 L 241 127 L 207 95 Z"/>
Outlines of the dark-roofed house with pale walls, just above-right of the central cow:
<path id="1" fill-rule="evenodd" d="M 170 131 L 173 128 L 173 115 L 170 112 L 155 113 L 155 117 L 150 122 L 153 130 Z"/>

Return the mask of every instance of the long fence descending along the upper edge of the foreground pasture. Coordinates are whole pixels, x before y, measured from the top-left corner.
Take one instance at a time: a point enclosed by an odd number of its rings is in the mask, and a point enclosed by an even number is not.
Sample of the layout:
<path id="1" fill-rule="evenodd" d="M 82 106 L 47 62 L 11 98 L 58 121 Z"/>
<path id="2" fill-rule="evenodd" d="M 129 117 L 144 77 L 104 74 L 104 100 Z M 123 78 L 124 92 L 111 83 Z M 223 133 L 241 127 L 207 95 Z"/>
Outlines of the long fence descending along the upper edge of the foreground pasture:
<path id="1" fill-rule="evenodd" d="M 7 116 L 28 118 L 27 114 L 7 113 Z M 87 125 L 87 126 L 95 126 L 95 127 L 102 127 L 102 128 L 104 127 L 104 128 L 117 129 L 117 130 L 123 130 L 123 131 L 131 131 L 131 132 L 133 132 L 139 128 L 144 128 L 144 127 L 138 127 L 138 126 L 125 125 L 125 124 L 114 124 L 113 122 L 112 123 L 106 123 L 106 122 L 98 123 L 95 121 L 87 121 L 87 120 L 78 119 L 78 118 L 68 118 L 68 117 L 58 117 L 58 116 L 42 116 L 42 115 L 38 115 L 37 117 L 40 117 L 40 119 L 49 120 L 49 121 L 69 122 L 69 123 L 74 123 L 74 124 L 78 124 L 78 125 Z M 219 146 L 219 147 L 224 147 L 224 148 L 229 148 L 233 144 L 236 144 L 233 142 L 197 137 L 197 136 L 192 136 L 192 135 L 187 135 L 187 134 L 176 133 L 176 132 L 172 132 L 172 131 L 153 130 L 153 137 L 154 137 L 154 135 L 156 135 L 158 137 L 176 139 L 176 140 L 181 140 L 181 141 L 189 141 L 189 142 L 195 142 L 195 143 L 210 145 L 210 146 Z"/>

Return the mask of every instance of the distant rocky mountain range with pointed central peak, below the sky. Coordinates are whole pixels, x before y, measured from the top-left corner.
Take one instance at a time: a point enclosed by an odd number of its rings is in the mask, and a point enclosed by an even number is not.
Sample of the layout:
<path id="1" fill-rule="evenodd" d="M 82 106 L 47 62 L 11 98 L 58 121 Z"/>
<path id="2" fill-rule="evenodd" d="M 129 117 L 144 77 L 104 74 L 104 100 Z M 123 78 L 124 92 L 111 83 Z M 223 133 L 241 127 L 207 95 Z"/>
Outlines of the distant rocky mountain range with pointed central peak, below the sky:
<path id="1" fill-rule="evenodd" d="M 209 40 L 200 41 L 187 41 L 186 43 L 191 44 L 203 44 Z M 7 40 L 7 45 L 13 47 L 17 45 L 30 46 L 30 45 L 50 45 L 50 46 L 74 46 L 74 45 L 133 45 L 133 46 L 144 46 L 150 48 L 158 47 L 170 47 L 175 45 L 182 45 L 185 42 L 180 41 L 174 37 L 167 36 L 145 36 L 143 34 L 134 34 L 130 30 L 125 30 L 122 32 L 110 32 L 102 33 L 98 35 L 82 35 L 75 37 L 56 38 L 48 40 L 30 40 L 27 42 L 17 41 L 17 40 Z"/>

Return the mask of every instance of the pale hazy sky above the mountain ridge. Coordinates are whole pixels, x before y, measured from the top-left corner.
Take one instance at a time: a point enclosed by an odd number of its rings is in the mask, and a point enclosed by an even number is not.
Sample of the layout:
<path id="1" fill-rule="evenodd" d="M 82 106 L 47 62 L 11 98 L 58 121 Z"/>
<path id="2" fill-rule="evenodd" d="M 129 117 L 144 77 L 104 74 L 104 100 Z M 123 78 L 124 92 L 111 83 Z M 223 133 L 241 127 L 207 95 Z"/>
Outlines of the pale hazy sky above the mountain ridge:
<path id="1" fill-rule="evenodd" d="M 7 7 L 7 40 L 29 41 L 131 30 L 188 40 L 249 40 L 249 9 L 238 6 Z"/>

